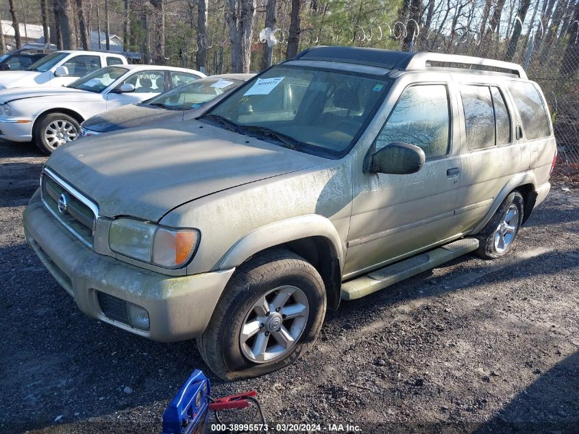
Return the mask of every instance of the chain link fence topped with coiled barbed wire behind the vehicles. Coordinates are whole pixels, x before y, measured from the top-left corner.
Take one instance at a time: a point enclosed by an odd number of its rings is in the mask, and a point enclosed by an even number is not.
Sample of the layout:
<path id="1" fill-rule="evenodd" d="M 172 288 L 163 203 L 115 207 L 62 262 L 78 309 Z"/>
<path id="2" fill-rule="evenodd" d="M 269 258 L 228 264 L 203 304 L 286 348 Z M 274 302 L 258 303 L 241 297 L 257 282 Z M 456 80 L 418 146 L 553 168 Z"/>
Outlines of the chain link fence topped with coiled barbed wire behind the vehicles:
<path id="1" fill-rule="evenodd" d="M 564 21 L 545 28 L 541 21 L 523 26 L 518 18 L 500 33 L 489 24 L 484 29 L 460 27 L 454 31 L 440 25 L 427 29 L 415 20 L 405 23 L 374 23 L 341 27 L 312 26 L 302 28 L 299 49 L 312 45 L 351 45 L 402 51 L 434 51 L 463 54 L 523 65 L 530 80 L 539 83 L 550 108 L 558 143 L 559 161 L 579 164 L 579 21 Z M 472 26 L 471 26 L 472 27 Z M 517 28 L 518 27 L 518 28 Z M 267 32 L 265 32 L 267 30 Z M 261 65 L 262 47 L 273 43 L 272 62 L 285 60 L 288 29 L 254 31 L 251 70 Z M 199 47 L 188 47 L 191 64 Z M 208 73 L 230 70 L 230 42 L 225 28 L 208 35 Z"/>

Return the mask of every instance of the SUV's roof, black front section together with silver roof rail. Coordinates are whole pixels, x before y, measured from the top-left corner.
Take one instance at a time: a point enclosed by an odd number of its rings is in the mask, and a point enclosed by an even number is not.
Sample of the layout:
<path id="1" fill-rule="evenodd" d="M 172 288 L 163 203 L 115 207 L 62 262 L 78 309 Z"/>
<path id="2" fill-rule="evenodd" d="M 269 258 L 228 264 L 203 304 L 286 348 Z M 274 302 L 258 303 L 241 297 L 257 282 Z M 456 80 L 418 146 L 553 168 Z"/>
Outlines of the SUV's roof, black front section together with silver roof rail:
<path id="1" fill-rule="evenodd" d="M 399 69 L 401 71 L 427 70 L 437 67 L 445 69 L 476 69 L 479 71 L 513 74 L 523 79 L 527 78 L 527 74 L 519 64 L 472 56 L 460 56 L 458 54 L 408 53 L 407 51 L 376 48 L 318 46 L 301 51 L 293 58 L 293 60 L 297 59 L 365 64 L 386 69 Z"/>

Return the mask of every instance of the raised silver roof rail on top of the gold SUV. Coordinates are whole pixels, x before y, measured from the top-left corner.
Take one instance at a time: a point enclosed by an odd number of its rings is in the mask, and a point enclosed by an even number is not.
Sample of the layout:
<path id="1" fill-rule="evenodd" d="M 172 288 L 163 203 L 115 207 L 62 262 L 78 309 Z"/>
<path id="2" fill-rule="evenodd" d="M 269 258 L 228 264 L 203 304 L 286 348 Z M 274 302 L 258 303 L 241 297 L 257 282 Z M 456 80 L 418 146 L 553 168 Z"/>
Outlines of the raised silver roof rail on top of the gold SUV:
<path id="1" fill-rule="evenodd" d="M 502 60 L 476 58 L 473 56 L 460 56 L 458 54 L 419 52 L 415 53 L 413 56 L 405 58 L 404 60 L 402 60 L 402 62 L 399 62 L 399 64 L 396 65 L 396 68 L 408 70 L 408 69 L 428 69 L 429 67 L 436 67 L 435 65 L 432 65 L 432 62 L 440 62 L 444 64 L 469 65 L 470 67 L 472 67 L 472 69 L 481 69 L 481 70 L 485 70 L 484 68 L 500 69 L 502 70 L 500 72 L 518 75 L 524 80 L 527 79 L 527 73 L 525 72 L 523 67 L 521 67 L 521 65 L 519 64 L 511 62 L 503 62 Z M 460 66 L 456 68 L 460 68 Z"/>

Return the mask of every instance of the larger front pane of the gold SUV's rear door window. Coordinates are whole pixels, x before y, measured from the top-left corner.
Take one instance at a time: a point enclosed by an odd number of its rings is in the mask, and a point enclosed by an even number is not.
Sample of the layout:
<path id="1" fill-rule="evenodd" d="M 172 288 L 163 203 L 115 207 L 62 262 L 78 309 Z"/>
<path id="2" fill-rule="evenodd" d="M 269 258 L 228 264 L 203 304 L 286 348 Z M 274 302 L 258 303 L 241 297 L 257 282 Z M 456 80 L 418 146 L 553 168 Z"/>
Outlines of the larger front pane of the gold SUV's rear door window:
<path id="1" fill-rule="evenodd" d="M 460 86 L 470 151 L 495 145 L 495 112 L 488 86 Z"/>

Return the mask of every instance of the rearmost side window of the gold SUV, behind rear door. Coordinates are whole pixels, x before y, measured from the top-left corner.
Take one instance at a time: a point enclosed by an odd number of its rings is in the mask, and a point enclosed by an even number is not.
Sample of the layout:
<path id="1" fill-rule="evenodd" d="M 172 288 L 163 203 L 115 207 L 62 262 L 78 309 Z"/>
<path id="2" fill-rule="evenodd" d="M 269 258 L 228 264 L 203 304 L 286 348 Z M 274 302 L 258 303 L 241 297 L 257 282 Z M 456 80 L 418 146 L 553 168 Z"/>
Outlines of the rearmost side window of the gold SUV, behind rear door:
<path id="1" fill-rule="evenodd" d="M 519 110 L 526 138 L 550 136 L 549 118 L 539 91 L 529 82 L 510 82 L 507 84 Z"/>

